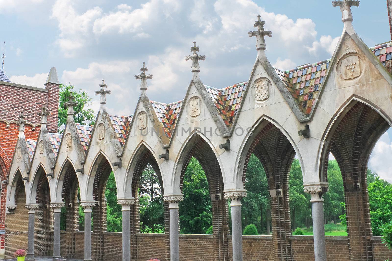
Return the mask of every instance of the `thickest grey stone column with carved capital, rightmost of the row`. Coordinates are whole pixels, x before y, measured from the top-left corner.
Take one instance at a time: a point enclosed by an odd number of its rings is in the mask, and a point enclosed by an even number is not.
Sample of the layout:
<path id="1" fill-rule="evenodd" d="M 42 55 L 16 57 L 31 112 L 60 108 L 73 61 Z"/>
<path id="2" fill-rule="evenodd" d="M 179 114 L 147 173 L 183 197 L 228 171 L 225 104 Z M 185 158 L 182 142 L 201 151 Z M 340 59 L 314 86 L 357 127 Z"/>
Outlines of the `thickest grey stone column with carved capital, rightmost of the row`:
<path id="1" fill-rule="evenodd" d="M 303 189 L 303 192 L 309 193 L 312 197 L 310 202 L 312 202 L 314 260 L 327 261 L 327 251 L 325 250 L 323 194 L 328 191 L 328 183 L 323 182 L 321 185 L 305 185 Z"/>

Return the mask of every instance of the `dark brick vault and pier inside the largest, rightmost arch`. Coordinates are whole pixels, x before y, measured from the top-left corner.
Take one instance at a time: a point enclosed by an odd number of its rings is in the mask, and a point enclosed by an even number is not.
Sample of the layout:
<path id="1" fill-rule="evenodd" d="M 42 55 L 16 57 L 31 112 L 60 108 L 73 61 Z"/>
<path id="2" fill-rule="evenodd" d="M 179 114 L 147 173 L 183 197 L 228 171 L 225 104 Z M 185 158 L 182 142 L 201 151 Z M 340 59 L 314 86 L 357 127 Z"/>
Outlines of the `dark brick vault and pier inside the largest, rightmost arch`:
<path id="1" fill-rule="evenodd" d="M 367 164 L 377 140 L 390 128 L 368 104 L 354 100 L 337 115 L 326 135 L 320 172 L 327 180 L 328 155 L 338 162 L 343 178 L 350 260 L 373 260 L 372 227 L 367 191 Z"/>

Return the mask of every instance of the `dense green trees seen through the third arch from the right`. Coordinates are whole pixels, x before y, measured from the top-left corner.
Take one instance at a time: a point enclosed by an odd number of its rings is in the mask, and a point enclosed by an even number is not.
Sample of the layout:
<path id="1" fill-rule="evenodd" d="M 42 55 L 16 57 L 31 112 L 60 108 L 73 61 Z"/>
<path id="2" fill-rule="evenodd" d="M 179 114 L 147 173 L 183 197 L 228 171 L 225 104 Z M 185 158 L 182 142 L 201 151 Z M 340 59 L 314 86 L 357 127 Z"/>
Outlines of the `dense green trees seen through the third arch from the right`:
<path id="1" fill-rule="evenodd" d="M 180 231 L 205 234 L 212 225 L 211 198 L 203 168 L 192 157 L 183 181 L 184 201 L 180 202 Z"/>

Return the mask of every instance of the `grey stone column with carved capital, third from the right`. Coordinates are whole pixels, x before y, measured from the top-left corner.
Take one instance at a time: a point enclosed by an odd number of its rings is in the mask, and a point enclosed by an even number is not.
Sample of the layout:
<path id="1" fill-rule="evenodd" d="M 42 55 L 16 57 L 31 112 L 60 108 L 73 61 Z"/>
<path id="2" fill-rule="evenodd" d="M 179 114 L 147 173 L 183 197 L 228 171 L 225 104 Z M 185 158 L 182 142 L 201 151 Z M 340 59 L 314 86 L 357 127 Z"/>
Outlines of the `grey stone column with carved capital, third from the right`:
<path id="1" fill-rule="evenodd" d="M 178 203 L 183 196 L 165 196 L 163 201 L 169 202 L 170 216 L 170 261 L 180 260 L 180 246 L 178 241 Z"/>

